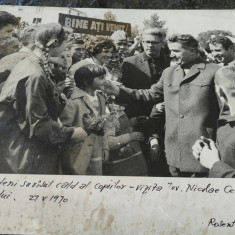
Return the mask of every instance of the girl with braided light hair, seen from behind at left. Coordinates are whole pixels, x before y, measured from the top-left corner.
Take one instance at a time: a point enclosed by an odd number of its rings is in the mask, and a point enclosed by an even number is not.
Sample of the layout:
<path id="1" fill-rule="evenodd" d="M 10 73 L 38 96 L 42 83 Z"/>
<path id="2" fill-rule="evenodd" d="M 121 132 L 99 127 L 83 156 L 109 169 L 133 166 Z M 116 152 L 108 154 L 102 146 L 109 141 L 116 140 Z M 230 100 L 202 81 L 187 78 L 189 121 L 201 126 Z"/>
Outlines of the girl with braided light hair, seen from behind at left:
<path id="1" fill-rule="evenodd" d="M 0 172 L 58 174 L 59 150 L 83 141 L 81 127 L 65 127 L 59 120 L 64 100 L 56 90 L 48 61 L 66 48 L 69 29 L 41 26 L 35 49 L 19 62 L 0 95 Z"/>

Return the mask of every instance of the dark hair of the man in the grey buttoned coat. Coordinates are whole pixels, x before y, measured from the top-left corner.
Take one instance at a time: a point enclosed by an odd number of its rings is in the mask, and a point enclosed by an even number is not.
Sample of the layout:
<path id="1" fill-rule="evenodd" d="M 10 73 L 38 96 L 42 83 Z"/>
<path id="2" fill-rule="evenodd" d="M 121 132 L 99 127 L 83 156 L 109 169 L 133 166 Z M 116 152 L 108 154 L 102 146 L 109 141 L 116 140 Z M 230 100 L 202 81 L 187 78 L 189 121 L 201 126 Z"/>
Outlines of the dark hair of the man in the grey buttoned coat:
<path id="1" fill-rule="evenodd" d="M 190 34 L 173 34 L 168 38 L 168 42 L 178 42 L 183 47 L 194 48 L 196 51 L 199 49 L 198 41 Z"/>

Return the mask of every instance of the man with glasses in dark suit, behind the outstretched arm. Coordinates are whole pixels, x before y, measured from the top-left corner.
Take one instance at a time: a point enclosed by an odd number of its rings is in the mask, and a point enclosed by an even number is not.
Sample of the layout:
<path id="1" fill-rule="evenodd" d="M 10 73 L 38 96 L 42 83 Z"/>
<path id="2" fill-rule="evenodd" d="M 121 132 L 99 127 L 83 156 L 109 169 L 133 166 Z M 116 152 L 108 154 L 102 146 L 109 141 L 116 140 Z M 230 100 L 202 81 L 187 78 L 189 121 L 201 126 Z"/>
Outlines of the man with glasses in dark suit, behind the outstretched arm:
<path id="1" fill-rule="evenodd" d="M 170 65 L 169 59 L 162 53 L 165 32 L 158 29 L 147 29 L 142 34 L 144 52 L 126 58 L 123 61 L 121 82 L 132 89 L 149 89 L 158 82 L 162 71 Z M 133 101 L 125 111 L 128 117 L 149 116 L 151 104 Z"/>

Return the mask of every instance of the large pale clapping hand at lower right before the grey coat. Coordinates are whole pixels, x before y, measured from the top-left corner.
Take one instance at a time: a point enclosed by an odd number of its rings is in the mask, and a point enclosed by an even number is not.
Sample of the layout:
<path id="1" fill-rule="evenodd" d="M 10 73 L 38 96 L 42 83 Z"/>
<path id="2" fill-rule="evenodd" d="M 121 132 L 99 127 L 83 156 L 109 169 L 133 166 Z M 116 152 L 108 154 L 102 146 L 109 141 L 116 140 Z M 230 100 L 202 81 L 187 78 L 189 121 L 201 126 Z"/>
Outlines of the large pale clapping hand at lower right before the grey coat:
<path id="1" fill-rule="evenodd" d="M 199 159 L 200 163 L 208 169 L 211 169 L 216 162 L 220 161 L 219 151 L 215 147 L 215 142 L 213 140 L 210 140 L 209 146 L 205 145 L 203 147 Z"/>

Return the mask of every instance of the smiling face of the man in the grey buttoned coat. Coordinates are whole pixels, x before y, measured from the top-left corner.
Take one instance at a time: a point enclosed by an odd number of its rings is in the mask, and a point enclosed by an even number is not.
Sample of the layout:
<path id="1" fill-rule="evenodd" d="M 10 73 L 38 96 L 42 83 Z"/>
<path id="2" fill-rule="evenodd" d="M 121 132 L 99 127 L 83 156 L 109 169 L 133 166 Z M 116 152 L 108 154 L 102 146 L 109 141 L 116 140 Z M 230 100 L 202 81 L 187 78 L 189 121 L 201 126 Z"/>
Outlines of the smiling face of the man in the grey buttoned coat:
<path id="1" fill-rule="evenodd" d="M 190 62 L 194 57 L 191 48 L 184 48 L 179 42 L 169 42 L 170 57 L 174 64 L 183 65 Z"/>

